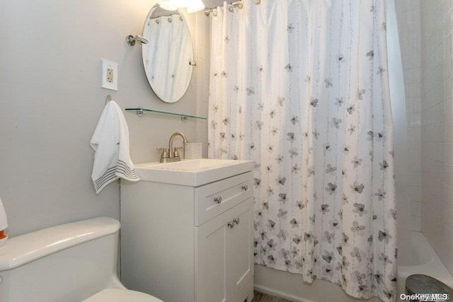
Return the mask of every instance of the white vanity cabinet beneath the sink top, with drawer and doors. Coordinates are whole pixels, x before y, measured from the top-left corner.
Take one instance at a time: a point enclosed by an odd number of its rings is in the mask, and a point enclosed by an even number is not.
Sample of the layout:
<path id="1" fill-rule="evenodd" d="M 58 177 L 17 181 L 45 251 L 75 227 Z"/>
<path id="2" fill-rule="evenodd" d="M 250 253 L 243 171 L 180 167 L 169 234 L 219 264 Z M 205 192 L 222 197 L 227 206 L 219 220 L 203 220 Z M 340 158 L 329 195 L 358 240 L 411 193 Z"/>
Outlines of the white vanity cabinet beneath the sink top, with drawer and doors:
<path id="1" fill-rule="evenodd" d="M 122 181 L 125 286 L 166 302 L 250 302 L 251 181 L 250 171 L 197 187 Z"/>

